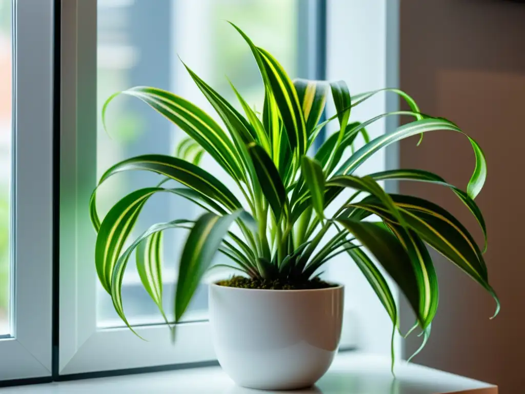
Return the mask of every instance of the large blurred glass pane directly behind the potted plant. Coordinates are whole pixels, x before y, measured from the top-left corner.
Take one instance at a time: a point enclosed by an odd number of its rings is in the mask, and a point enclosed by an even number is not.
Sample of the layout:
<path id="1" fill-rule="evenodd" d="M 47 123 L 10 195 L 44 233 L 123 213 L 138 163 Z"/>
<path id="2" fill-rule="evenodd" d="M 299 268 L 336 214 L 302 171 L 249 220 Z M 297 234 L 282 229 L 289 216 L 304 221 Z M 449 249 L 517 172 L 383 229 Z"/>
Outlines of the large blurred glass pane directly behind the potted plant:
<path id="1" fill-rule="evenodd" d="M 237 106 L 226 77 L 256 109 L 264 98 L 255 60 L 244 40 L 226 20 L 236 23 L 257 43 L 268 49 L 296 76 L 297 14 L 299 0 L 99 0 L 98 2 L 98 108 L 116 91 L 136 86 L 155 86 L 175 92 L 206 110 L 218 120 L 177 56 L 220 94 Z M 119 97 L 108 107 L 108 133 L 99 120 L 97 175 L 110 165 L 145 153 L 173 154 L 185 134 L 137 99 Z M 108 135 L 109 134 L 109 135 Z M 233 182 L 204 155 L 201 167 L 229 188 Z M 100 189 L 99 210 L 106 213 L 118 199 L 140 187 L 155 185 L 161 178 L 149 173 L 118 174 Z M 134 236 L 149 225 L 173 219 L 194 219 L 202 211 L 173 195 L 155 195 L 146 204 Z M 164 234 L 164 298 L 166 312 L 173 305 L 173 283 L 184 231 Z M 223 259 L 223 260 L 221 260 Z M 216 263 L 224 262 L 217 256 Z M 223 272 L 217 275 L 228 276 Z M 124 310 L 131 324 L 161 322 L 156 306 L 141 286 L 130 260 L 123 286 Z M 111 299 L 101 286 L 98 293 L 98 324 L 121 326 Z M 188 320 L 205 319 L 207 287 L 201 286 Z M 172 313 L 170 313 L 172 315 Z"/>

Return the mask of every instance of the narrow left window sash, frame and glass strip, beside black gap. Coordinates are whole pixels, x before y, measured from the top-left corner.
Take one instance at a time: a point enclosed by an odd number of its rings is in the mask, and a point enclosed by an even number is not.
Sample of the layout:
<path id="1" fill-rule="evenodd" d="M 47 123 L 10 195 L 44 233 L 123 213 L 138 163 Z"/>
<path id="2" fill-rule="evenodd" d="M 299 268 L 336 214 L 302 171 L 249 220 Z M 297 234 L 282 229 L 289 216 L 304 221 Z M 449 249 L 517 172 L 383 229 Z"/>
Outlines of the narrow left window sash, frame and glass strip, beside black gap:
<path id="1" fill-rule="evenodd" d="M 51 375 L 53 1 L 0 0 L 0 380 Z"/>

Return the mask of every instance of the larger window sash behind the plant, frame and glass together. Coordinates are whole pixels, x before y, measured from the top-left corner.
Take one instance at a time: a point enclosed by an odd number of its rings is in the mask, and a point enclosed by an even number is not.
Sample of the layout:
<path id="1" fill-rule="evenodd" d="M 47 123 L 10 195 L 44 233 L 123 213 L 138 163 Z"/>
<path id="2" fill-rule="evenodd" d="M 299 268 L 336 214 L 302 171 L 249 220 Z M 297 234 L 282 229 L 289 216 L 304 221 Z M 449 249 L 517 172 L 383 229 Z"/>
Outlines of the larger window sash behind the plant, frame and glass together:
<path id="1" fill-rule="evenodd" d="M 175 91 L 212 115 L 213 109 L 194 86 L 178 55 L 221 94 L 233 99 L 226 74 L 260 108 L 264 91 L 257 66 L 243 40 L 224 19 L 249 28 L 253 38 L 270 49 L 292 76 L 308 77 L 305 66 L 314 54 L 307 51 L 309 39 L 304 34 L 307 19 L 301 20 L 299 15 L 308 11 L 307 3 L 319 2 L 99 0 L 97 3 L 95 6 L 79 0 L 62 2 L 61 68 L 76 72 L 67 75 L 62 72 L 61 161 L 76 162 L 77 168 L 76 172 L 67 166 L 60 169 L 59 373 L 213 360 L 205 284 L 186 316 L 187 323 L 177 331 L 180 340 L 174 347 L 169 330 L 160 324 L 161 317 L 136 272 L 130 269 L 124 277 L 124 308 L 131 323 L 149 342 L 134 337 L 122 326 L 110 297 L 98 284 L 91 257 L 95 234 L 86 211 L 97 178 L 109 165 L 133 155 L 173 153 L 182 136 L 148 106 L 124 96 L 108 107 L 106 133 L 100 119 L 101 107 L 116 91 L 150 85 Z M 92 132 L 94 129 L 96 134 Z M 204 157 L 202 165 L 220 176 L 218 165 L 212 160 Z M 122 174 L 110 179 L 97 199 L 101 213 L 130 189 L 155 182 L 148 175 Z M 166 217 L 198 214 L 184 200 L 155 197 L 156 201 L 144 208 L 137 231 Z M 184 234 L 165 235 L 164 294 L 170 306 L 183 240 Z"/>

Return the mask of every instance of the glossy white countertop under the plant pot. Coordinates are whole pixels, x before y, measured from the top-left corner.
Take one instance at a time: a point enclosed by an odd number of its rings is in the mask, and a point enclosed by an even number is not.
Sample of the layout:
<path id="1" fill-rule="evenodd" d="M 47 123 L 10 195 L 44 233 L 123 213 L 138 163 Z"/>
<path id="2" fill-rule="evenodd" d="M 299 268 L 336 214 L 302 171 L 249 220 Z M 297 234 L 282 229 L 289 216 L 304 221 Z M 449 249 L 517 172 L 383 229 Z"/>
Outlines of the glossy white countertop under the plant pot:
<path id="1" fill-rule="evenodd" d="M 287 394 L 497 394 L 496 386 L 446 372 L 397 362 L 396 380 L 390 359 L 343 352 L 327 374 L 308 390 L 271 391 Z M 81 379 L 0 389 L 2 394 L 263 394 L 270 391 L 237 387 L 219 367 L 180 369 L 147 374 Z"/>

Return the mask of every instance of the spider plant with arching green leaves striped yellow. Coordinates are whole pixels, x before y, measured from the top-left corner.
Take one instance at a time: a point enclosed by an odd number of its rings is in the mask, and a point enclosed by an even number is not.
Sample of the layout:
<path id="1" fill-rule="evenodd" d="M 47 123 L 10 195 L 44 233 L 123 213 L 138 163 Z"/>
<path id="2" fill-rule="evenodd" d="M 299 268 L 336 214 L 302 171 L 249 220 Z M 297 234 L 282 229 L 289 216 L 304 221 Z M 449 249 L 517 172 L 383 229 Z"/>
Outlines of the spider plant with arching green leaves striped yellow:
<path id="1" fill-rule="evenodd" d="M 121 287 L 124 270 L 135 250 L 142 284 L 167 322 L 159 251 L 162 232 L 172 228 L 188 232 L 176 282 L 175 323 L 181 320 L 217 252 L 229 257 L 231 264 L 225 266 L 243 275 L 282 282 L 307 281 L 319 273 L 324 263 L 345 253 L 379 297 L 395 333 L 399 329 L 398 307 L 383 273 L 393 279 L 414 310 L 414 328 L 422 330 L 424 345 L 438 306 L 437 277 L 427 246 L 484 287 L 496 300 L 496 315 L 499 301 L 489 285 L 483 253 L 465 226 L 433 202 L 386 193 L 378 183 L 409 180 L 449 188 L 474 215 L 486 248 L 485 221 L 474 201 L 487 174 L 485 156 L 478 143 L 455 123 L 421 113 L 415 101 L 401 90 L 351 95 L 343 81 L 292 81 L 274 57 L 254 45 L 237 26 L 233 27 L 248 44 L 264 82 L 261 114 L 232 85 L 244 111 L 241 114 L 187 66 L 224 127 L 184 98 L 153 87 L 118 92 L 104 103 L 102 118 L 116 96 L 136 97 L 188 137 L 181 143 L 178 157 L 146 154 L 109 168 L 99 185 L 123 171 L 150 171 L 163 175 L 164 180 L 124 196 L 102 221 L 96 209 L 96 190 L 93 191 L 90 215 L 98 233 L 97 273 L 123 322 L 133 330 L 124 314 Z M 383 91 L 399 95 L 410 109 L 380 113 L 364 122 L 353 121 L 352 109 Z M 337 113 L 320 122 L 329 95 Z M 409 116 L 413 121 L 369 140 L 365 128 L 388 116 Z M 337 132 L 309 157 L 307 152 L 319 132 L 331 121 L 338 122 Z M 353 175 L 378 150 L 401 139 L 418 134 L 422 138 L 423 133 L 437 130 L 459 133 L 474 150 L 475 169 L 466 191 L 439 175 L 417 169 L 382 171 L 364 177 Z M 362 146 L 356 149 L 356 141 L 362 140 Z M 347 150 L 351 154 L 344 156 Z M 198 167 L 203 153 L 215 159 L 233 179 L 238 195 Z M 167 180 L 177 181 L 177 187 L 167 188 L 164 183 Z M 206 212 L 195 221 L 175 219 L 154 224 L 127 243 L 144 204 L 156 193 L 182 196 Z M 337 199 L 340 195 L 345 196 L 344 202 Z M 230 226 L 236 226 L 237 232 Z"/>

